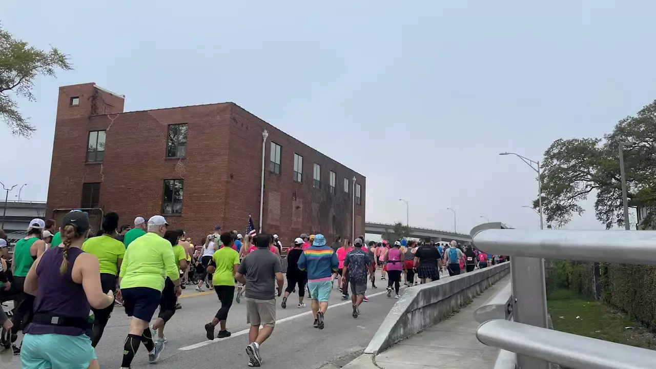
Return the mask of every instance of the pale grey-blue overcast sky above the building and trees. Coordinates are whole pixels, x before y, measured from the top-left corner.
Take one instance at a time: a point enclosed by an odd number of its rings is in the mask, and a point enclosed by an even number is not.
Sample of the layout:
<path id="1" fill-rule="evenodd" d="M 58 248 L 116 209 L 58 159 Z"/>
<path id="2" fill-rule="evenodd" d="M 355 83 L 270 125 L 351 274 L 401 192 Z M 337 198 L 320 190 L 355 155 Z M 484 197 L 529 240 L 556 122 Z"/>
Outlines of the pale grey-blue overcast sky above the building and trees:
<path id="1" fill-rule="evenodd" d="M 365 175 L 367 221 L 405 223 L 403 198 L 415 227 L 453 230 L 451 208 L 459 232 L 485 217 L 537 229 L 522 207 L 535 172 L 498 154 L 541 160 L 654 100 L 655 12 L 653 0 L 2 1 L 5 30 L 75 70 L 19 100 L 31 139 L 0 124 L 0 181 L 45 201 L 58 87 L 95 82 L 125 111 L 236 102 Z M 593 202 L 566 228 L 604 228 Z"/>

